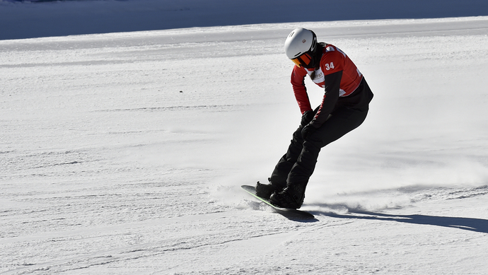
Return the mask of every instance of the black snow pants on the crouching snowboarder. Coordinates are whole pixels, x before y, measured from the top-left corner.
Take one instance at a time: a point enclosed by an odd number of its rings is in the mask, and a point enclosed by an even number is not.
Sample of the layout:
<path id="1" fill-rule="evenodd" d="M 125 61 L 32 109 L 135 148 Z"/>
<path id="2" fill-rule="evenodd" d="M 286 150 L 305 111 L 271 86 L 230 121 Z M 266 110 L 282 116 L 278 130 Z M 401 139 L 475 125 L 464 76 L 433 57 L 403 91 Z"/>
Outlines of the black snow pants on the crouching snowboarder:
<path id="1" fill-rule="evenodd" d="M 315 170 L 320 149 L 359 127 L 368 115 L 368 108 L 352 109 L 342 106 L 331 115 L 306 141 L 301 136 L 303 125 L 296 129 L 288 151 L 272 172 L 271 182 L 274 185 L 306 185 Z"/>

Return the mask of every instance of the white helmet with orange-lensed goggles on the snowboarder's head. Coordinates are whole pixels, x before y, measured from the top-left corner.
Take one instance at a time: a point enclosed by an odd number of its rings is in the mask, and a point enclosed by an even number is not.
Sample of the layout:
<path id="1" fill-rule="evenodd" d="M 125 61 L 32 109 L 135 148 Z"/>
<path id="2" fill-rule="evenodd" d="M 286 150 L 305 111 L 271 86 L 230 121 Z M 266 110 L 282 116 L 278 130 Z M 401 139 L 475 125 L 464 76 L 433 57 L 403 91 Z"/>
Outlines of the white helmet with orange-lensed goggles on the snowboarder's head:
<path id="1" fill-rule="evenodd" d="M 315 49 L 317 49 L 317 35 L 311 30 L 296 28 L 285 40 L 285 53 L 297 66 L 310 64 Z M 308 54 L 300 58 L 303 54 Z"/>

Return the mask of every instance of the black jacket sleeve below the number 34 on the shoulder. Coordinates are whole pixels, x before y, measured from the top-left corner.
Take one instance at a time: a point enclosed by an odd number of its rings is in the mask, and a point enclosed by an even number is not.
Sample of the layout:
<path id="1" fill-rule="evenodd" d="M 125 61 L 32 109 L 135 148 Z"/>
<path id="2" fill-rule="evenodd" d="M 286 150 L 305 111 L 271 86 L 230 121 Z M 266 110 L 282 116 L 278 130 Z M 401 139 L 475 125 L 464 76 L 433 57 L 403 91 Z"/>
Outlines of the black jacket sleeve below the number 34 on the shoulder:
<path id="1" fill-rule="evenodd" d="M 325 76 L 325 93 L 322 104 L 318 108 L 317 114 L 313 117 L 310 124 L 313 127 L 320 127 L 329 118 L 330 113 L 334 110 L 335 104 L 339 99 L 339 88 L 342 79 L 342 71 Z"/>

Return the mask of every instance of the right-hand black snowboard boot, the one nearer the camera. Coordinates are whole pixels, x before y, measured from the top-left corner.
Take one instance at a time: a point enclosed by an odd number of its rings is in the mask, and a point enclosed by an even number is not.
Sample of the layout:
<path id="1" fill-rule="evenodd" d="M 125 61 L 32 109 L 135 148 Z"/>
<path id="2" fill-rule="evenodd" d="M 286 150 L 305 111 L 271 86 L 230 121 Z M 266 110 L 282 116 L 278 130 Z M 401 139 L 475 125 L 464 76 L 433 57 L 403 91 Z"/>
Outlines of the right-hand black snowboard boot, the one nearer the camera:
<path id="1" fill-rule="evenodd" d="M 299 209 L 305 199 L 306 185 L 288 185 L 283 190 L 271 194 L 269 202 L 282 208 Z"/>

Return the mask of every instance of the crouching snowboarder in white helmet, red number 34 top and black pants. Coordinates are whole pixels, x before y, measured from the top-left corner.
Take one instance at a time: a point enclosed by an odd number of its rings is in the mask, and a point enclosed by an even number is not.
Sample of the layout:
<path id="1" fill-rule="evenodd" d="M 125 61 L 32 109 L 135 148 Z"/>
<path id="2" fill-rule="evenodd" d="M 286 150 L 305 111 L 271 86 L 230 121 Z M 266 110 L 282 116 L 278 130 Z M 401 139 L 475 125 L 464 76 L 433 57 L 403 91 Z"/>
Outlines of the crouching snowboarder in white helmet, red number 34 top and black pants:
<path id="1" fill-rule="evenodd" d="M 302 113 L 301 124 L 269 177 L 269 184 L 257 182 L 256 193 L 277 206 L 298 209 L 320 148 L 364 122 L 373 93 L 347 54 L 334 45 L 318 43 L 311 30 L 293 30 L 284 49 L 295 64 L 291 85 Z M 325 90 L 322 103 L 315 110 L 304 82 L 307 75 Z"/>

